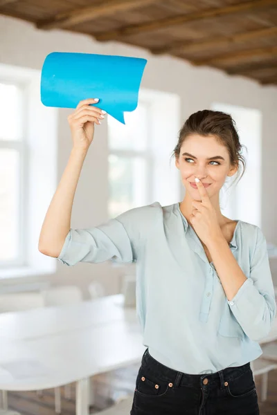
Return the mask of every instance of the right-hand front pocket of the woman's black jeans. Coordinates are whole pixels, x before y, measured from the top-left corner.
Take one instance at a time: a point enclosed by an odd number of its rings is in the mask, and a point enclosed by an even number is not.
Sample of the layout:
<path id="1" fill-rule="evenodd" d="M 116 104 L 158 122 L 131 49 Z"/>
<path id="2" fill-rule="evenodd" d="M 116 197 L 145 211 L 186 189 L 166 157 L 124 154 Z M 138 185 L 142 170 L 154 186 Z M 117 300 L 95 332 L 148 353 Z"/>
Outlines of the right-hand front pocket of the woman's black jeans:
<path id="1" fill-rule="evenodd" d="M 232 398 L 244 398 L 251 394 L 256 394 L 256 385 L 252 371 L 247 370 L 238 378 L 229 380 L 226 390 Z"/>

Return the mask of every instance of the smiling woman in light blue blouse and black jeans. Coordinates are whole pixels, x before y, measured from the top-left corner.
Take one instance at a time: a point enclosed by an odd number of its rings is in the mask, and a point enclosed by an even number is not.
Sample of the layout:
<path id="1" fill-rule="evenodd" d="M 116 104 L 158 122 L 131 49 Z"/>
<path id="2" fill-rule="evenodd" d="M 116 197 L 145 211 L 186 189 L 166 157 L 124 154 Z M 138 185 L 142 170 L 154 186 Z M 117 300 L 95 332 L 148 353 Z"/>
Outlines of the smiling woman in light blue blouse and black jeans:
<path id="1" fill-rule="evenodd" d="M 68 266 L 136 262 L 147 349 L 132 415 L 259 414 L 250 362 L 262 354 L 258 340 L 270 331 L 276 302 L 262 231 L 220 211 L 222 185 L 245 167 L 231 116 L 198 111 L 181 128 L 173 154 L 186 188 L 181 203 L 155 202 L 73 230 L 76 186 L 94 125 L 104 117 L 95 102 L 80 102 L 69 116 L 73 148 L 42 225 L 40 252 Z"/>

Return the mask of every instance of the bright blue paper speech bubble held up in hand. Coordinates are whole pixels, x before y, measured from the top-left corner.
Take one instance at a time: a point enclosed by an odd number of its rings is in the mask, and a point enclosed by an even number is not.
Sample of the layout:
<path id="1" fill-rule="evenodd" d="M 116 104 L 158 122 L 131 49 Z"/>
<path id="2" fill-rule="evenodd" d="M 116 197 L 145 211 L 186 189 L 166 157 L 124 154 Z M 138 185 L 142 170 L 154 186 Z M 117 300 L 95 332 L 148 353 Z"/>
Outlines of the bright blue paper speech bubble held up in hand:
<path id="1" fill-rule="evenodd" d="M 125 124 L 123 111 L 137 107 L 146 62 L 139 57 L 50 53 L 42 67 L 42 103 L 75 108 L 80 100 L 99 98 L 93 105 Z"/>

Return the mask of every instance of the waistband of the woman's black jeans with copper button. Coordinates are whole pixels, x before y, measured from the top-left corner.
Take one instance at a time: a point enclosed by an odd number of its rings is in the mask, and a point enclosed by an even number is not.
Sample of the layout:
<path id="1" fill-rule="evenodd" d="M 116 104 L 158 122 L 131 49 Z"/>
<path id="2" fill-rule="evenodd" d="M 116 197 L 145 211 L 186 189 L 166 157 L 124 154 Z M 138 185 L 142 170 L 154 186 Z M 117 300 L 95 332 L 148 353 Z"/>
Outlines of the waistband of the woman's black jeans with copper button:
<path id="1" fill-rule="evenodd" d="M 229 382 L 229 380 L 239 378 L 242 374 L 247 371 L 251 371 L 250 362 L 242 366 L 236 367 L 226 367 L 220 371 L 217 371 L 213 374 L 185 374 L 184 372 L 171 369 L 158 362 L 152 356 L 148 349 L 143 353 L 143 358 L 141 359 L 141 365 L 147 367 L 148 370 L 152 372 L 153 375 L 156 375 L 158 378 L 165 380 L 166 382 L 172 382 L 173 387 L 177 388 L 181 385 L 199 387 L 203 386 L 203 380 L 207 379 L 204 382 L 204 387 L 213 387 L 215 385 L 224 388 L 224 382 Z"/>

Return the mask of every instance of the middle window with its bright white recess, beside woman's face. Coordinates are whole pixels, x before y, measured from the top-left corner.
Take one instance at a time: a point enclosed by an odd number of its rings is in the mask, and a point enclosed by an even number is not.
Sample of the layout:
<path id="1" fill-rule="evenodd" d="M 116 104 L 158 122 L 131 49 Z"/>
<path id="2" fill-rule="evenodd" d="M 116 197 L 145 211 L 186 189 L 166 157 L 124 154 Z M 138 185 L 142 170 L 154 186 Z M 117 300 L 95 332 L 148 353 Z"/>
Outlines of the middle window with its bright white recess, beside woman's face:
<path id="1" fill-rule="evenodd" d="M 125 124 L 107 116 L 109 217 L 159 201 L 179 201 L 179 170 L 170 167 L 180 127 L 179 95 L 141 89 Z"/>

